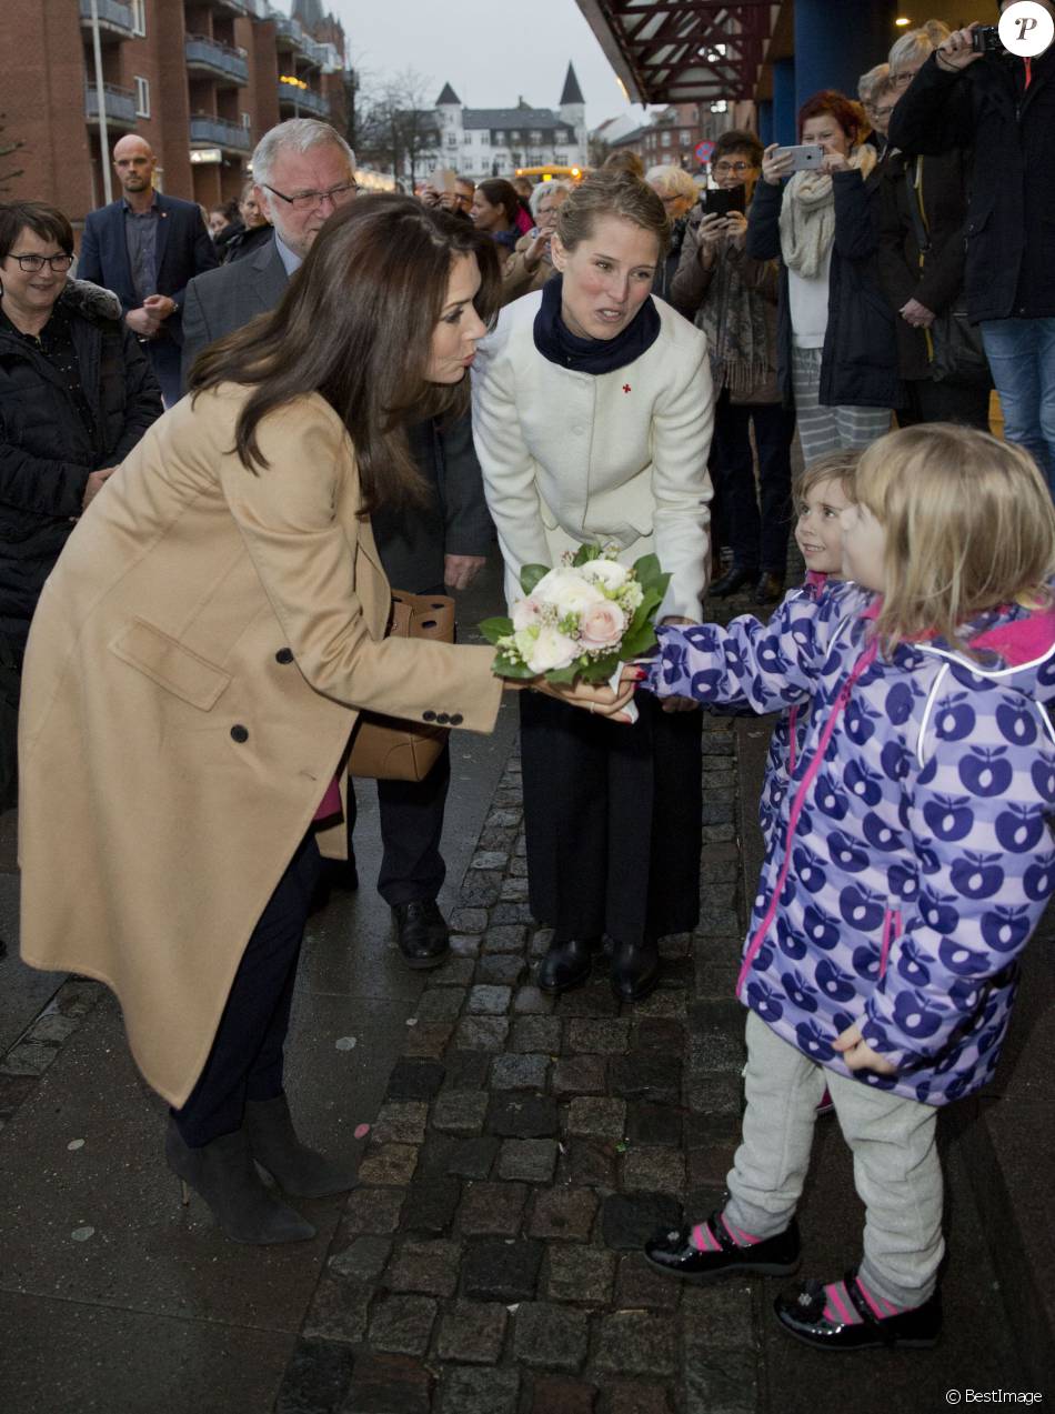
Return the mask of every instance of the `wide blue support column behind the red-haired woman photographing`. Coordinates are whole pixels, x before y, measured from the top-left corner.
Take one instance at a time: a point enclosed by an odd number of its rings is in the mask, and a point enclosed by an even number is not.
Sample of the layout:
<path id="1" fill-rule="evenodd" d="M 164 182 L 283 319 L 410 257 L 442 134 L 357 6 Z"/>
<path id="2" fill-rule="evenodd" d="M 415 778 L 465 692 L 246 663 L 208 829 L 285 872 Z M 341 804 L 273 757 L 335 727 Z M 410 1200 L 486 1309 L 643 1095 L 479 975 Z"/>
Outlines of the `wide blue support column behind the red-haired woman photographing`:
<path id="1" fill-rule="evenodd" d="M 897 0 L 795 0 L 796 109 L 819 89 L 857 98 L 857 79 L 897 38 Z"/>

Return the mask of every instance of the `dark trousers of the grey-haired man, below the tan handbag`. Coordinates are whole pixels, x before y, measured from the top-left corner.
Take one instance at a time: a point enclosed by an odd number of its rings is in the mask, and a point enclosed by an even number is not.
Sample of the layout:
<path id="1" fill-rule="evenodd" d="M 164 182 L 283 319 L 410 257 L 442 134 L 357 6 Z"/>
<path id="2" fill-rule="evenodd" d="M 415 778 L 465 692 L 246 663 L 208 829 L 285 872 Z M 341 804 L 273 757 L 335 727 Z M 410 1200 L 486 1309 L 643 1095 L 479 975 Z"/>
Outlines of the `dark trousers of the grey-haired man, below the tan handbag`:
<path id="1" fill-rule="evenodd" d="M 451 783 L 451 752 L 444 747 L 424 781 L 379 781 L 378 809 L 385 854 L 378 892 L 385 902 L 421 904 L 437 896 L 447 877 L 440 854 L 443 814 Z M 354 857 L 355 782 L 348 782 L 348 858 Z"/>

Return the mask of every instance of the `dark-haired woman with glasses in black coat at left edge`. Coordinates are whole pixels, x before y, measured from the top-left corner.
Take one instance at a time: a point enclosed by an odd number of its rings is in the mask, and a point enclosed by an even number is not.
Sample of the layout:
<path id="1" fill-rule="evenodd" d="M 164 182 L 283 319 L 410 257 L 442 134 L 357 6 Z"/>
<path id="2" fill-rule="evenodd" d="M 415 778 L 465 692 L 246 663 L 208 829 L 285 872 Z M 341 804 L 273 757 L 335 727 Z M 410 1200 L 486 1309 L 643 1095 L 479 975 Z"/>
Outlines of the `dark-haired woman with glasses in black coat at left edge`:
<path id="1" fill-rule="evenodd" d="M 0 205 L 0 632 L 21 658 L 44 581 L 161 390 L 107 291 L 68 279 L 74 230 Z"/>

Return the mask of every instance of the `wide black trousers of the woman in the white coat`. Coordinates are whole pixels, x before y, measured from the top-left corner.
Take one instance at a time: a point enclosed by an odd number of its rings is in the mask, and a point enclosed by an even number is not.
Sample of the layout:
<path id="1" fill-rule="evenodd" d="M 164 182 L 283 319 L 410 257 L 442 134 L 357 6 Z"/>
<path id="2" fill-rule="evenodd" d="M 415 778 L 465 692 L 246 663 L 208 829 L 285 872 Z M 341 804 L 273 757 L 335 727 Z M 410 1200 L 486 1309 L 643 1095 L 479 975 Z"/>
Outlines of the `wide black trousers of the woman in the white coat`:
<path id="1" fill-rule="evenodd" d="M 626 727 L 520 693 L 529 904 L 557 942 L 699 922 L 703 720 L 636 703 Z"/>

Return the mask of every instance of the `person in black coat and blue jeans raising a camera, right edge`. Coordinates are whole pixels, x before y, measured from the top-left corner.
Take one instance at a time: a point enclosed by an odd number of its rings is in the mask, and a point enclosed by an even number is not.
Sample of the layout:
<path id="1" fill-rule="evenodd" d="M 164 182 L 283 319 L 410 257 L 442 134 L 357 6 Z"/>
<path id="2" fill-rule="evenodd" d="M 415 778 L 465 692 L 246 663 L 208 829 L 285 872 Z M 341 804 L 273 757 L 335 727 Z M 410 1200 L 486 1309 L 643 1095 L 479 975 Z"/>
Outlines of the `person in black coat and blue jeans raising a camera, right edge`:
<path id="1" fill-rule="evenodd" d="M 1055 0 L 1039 3 L 1055 18 Z M 976 54 L 976 28 L 935 49 L 890 137 L 912 154 L 974 148 L 967 315 L 981 325 L 1007 437 L 1037 457 L 1055 492 L 1055 45 L 1030 59 Z"/>

